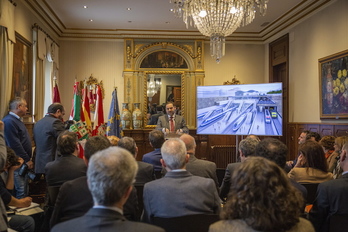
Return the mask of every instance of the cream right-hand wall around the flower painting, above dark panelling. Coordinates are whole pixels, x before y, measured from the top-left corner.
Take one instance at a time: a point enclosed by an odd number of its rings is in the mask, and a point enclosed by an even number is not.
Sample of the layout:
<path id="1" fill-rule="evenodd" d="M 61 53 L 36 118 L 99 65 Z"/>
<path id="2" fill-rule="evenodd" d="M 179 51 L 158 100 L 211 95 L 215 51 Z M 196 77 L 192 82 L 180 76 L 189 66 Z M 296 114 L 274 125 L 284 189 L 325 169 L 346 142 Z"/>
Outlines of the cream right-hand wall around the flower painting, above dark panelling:
<path id="1" fill-rule="evenodd" d="M 290 31 L 290 122 L 320 120 L 318 59 L 348 49 L 348 1 L 339 0 Z"/>

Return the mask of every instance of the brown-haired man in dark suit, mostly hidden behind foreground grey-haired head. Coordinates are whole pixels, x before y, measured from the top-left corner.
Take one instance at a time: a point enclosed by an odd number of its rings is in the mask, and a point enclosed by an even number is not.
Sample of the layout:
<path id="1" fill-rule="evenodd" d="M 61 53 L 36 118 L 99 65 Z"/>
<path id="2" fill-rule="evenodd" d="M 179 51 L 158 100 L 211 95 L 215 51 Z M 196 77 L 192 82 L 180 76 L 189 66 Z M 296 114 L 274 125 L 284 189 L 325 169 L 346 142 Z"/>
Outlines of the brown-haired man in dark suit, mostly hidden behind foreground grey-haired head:
<path id="1" fill-rule="evenodd" d="M 88 161 L 98 151 L 110 147 L 111 144 L 105 136 L 93 136 L 85 144 L 84 161 L 88 166 Z M 93 207 L 93 199 L 87 185 L 87 176 L 79 177 L 75 180 L 65 182 L 59 190 L 59 194 L 54 206 L 50 225 L 73 218 L 81 217 Z M 124 205 L 124 216 L 129 220 L 138 219 L 137 195 L 135 189 L 132 190 L 128 200 Z"/>

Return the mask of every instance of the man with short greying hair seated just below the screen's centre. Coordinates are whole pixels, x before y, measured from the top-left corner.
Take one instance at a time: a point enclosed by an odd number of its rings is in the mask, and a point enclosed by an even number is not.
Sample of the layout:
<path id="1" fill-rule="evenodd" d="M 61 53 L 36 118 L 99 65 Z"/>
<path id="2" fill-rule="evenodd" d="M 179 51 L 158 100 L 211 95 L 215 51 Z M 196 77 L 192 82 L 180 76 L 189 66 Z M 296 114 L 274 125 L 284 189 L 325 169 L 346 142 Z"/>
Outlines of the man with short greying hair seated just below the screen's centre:
<path id="1" fill-rule="evenodd" d="M 245 138 L 239 142 L 238 151 L 241 162 L 244 162 L 247 157 L 255 154 L 256 145 L 259 143 L 259 140 L 254 138 Z M 230 163 L 226 167 L 225 176 L 222 180 L 222 184 L 220 187 L 220 198 L 225 200 L 228 192 L 231 188 L 231 176 L 233 171 L 240 165 L 241 163 Z"/>

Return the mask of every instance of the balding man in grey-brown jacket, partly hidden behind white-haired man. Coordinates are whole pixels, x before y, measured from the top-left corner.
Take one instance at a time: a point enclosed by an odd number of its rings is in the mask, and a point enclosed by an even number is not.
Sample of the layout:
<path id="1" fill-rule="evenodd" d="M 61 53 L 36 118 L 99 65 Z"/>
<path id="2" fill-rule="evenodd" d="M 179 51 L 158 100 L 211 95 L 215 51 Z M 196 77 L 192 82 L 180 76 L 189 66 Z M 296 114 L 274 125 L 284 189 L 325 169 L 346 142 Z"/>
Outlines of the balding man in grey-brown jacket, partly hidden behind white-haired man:
<path id="1" fill-rule="evenodd" d="M 183 134 L 180 136 L 180 139 L 185 143 L 187 154 L 190 155 L 189 161 L 186 164 L 186 170 L 194 176 L 213 179 L 217 190 L 219 190 L 219 182 L 216 176 L 216 164 L 196 158 L 196 141 L 191 135 Z"/>

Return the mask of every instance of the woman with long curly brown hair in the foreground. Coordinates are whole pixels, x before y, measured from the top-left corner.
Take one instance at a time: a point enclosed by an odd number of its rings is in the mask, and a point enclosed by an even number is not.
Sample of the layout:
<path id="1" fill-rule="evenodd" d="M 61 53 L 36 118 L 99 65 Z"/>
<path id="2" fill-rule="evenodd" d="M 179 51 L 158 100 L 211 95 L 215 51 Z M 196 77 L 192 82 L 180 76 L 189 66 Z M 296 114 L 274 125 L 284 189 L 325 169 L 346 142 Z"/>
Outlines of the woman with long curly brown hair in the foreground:
<path id="1" fill-rule="evenodd" d="M 232 175 L 231 190 L 221 221 L 209 232 L 314 232 L 300 218 L 303 198 L 284 170 L 262 157 L 249 157 Z"/>

